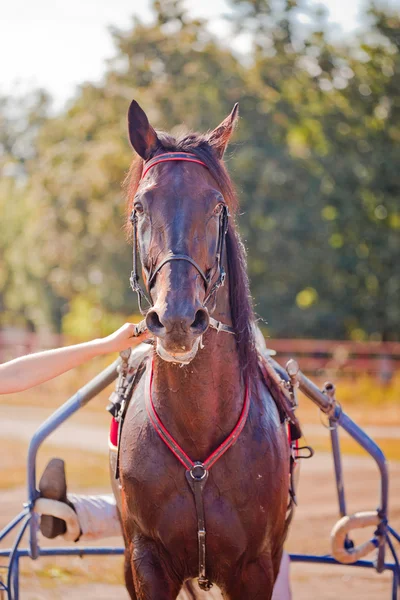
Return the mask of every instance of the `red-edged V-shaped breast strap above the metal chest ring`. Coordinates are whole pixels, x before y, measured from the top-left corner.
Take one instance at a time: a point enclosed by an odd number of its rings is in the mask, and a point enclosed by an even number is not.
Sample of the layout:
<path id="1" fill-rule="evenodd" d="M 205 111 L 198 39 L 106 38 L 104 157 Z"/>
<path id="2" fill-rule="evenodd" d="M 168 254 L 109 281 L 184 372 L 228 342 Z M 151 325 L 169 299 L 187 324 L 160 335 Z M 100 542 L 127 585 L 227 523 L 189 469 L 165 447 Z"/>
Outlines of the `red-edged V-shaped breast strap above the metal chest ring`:
<path id="1" fill-rule="evenodd" d="M 191 458 L 189 458 L 189 456 L 186 454 L 186 452 L 183 450 L 183 448 L 181 448 L 181 446 L 178 444 L 178 442 L 167 431 L 167 429 L 164 427 L 160 417 L 158 416 L 156 409 L 154 408 L 154 404 L 153 404 L 153 364 L 151 365 L 151 372 L 150 372 L 150 390 L 149 390 L 149 394 L 146 394 L 146 408 L 147 408 L 147 413 L 149 415 L 151 424 L 153 425 L 154 429 L 156 430 L 156 432 L 158 433 L 158 435 L 160 436 L 160 438 L 162 439 L 164 444 L 171 450 L 172 454 L 174 454 L 174 456 L 182 463 L 182 465 L 189 471 L 193 467 L 198 465 L 198 462 L 193 461 Z M 235 428 L 233 429 L 233 431 L 226 438 L 226 440 L 223 441 L 222 444 L 220 444 L 218 446 L 218 448 L 216 450 L 214 450 L 214 452 L 212 454 L 210 454 L 210 456 L 202 463 L 202 466 L 204 467 L 204 469 L 206 469 L 206 470 L 210 469 L 217 462 L 217 460 L 219 458 L 221 458 L 221 456 L 223 454 L 225 454 L 225 452 L 236 442 L 236 440 L 238 439 L 239 435 L 241 434 L 241 432 L 243 430 L 243 427 L 246 424 L 247 416 L 249 414 L 249 408 L 250 408 L 249 386 L 248 386 L 248 384 L 246 384 L 246 389 L 245 389 L 245 393 L 244 393 L 244 403 L 243 403 L 243 408 L 242 408 L 242 412 L 240 414 L 239 420 L 238 420 Z"/>

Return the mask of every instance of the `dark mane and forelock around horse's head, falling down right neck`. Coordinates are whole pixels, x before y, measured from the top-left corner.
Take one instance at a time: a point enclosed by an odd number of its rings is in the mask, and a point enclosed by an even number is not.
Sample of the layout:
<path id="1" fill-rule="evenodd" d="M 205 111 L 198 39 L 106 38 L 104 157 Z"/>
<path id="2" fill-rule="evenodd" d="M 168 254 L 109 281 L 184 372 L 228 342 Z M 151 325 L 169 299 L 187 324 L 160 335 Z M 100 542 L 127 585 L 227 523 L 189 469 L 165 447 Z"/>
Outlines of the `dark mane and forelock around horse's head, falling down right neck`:
<path id="1" fill-rule="evenodd" d="M 255 318 L 247 275 L 246 250 L 234 221 L 239 207 L 236 191 L 224 163 L 218 159 L 214 149 L 208 143 L 207 134 L 188 133 L 179 138 L 174 138 L 167 133 L 157 131 L 157 137 L 159 145 L 148 159 L 154 158 L 157 154 L 163 152 L 190 152 L 195 154 L 207 165 L 224 196 L 230 214 L 233 216 L 233 219 L 229 220 L 226 235 L 226 260 L 228 263 L 232 326 L 236 334 L 239 364 L 243 379 L 251 382 L 256 377 L 258 369 L 254 337 Z M 142 159 L 134 159 L 124 181 L 127 197 L 127 232 L 130 232 L 131 229 L 129 216 L 139 187 L 143 164 Z"/>

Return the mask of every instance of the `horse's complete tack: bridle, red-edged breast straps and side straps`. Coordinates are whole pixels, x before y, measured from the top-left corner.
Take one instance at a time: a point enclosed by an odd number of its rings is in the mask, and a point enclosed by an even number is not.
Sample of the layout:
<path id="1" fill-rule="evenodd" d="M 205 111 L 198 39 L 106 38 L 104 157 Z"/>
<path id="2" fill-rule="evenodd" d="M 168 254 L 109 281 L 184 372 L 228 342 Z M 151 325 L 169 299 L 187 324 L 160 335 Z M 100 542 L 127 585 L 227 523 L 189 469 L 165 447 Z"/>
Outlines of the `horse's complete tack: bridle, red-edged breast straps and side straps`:
<path id="1" fill-rule="evenodd" d="M 187 161 L 199 164 L 205 168 L 208 168 L 206 163 L 200 160 L 195 154 L 190 154 L 186 152 L 174 152 L 174 153 L 165 153 L 160 154 L 153 159 L 149 160 L 144 164 L 144 169 L 142 173 L 141 180 L 146 176 L 149 170 L 155 167 L 158 164 L 168 162 L 168 161 Z M 146 310 L 143 309 L 142 300 L 146 300 L 149 308 L 153 306 L 153 300 L 151 297 L 151 287 L 155 281 L 157 274 L 160 270 L 169 262 L 175 260 L 186 261 L 190 263 L 199 273 L 202 278 L 206 296 L 204 299 L 204 306 L 210 304 L 209 311 L 212 313 L 215 310 L 216 304 L 216 293 L 218 289 L 224 285 L 225 281 L 225 270 L 223 267 L 223 251 L 225 246 L 225 236 L 228 231 L 228 207 L 223 205 L 223 209 L 219 218 L 219 233 L 218 233 L 218 244 L 217 244 L 217 252 L 214 261 L 214 267 L 210 270 L 209 274 L 204 273 L 201 267 L 196 263 L 196 261 L 186 254 L 175 254 L 173 252 L 169 252 L 158 265 L 152 265 L 150 269 L 146 269 L 143 265 L 143 270 L 146 273 L 147 279 L 147 295 L 142 289 L 139 283 L 139 274 L 138 274 L 138 264 L 137 264 L 137 254 L 138 254 L 138 236 L 137 236 L 137 222 L 138 215 L 135 209 L 132 210 L 130 216 L 130 222 L 132 223 L 133 229 L 133 268 L 130 276 L 130 284 L 131 288 L 134 292 L 136 292 L 138 296 L 138 304 L 139 309 L 143 315 L 147 313 Z M 143 263 L 142 263 L 143 264 Z M 216 279 L 213 283 L 213 278 L 216 276 Z M 148 310 L 148 309 L 147 309 Z M 226 333 L 235 334 L 235 331 L 232 327 L 221 323 L 220 321 L 216 321 L 214 318 L 210 317 L 210 326 L 216 329 L 217 331 L 224 331 Z M 146 330 L 146 322 L 145 320 L 141 321 L 136 326 L 135 335 L 140 335 Z M 124 417 L 127 412 L 127 408 L 132 398 L 134 388 L 139 381 L 141 375 L 145 370 L 145 363 L 143 359 L 141 360 L 139 366 L 136 365 L 136 369 L 131 368 L 129 364 L 129 354 L 121 353 L 122 357 L 122 365 L 120 368 L 120 376 L 117 382 L 117 391 L 114 392 L 110 398 L 111 403 L 108 407 L 108 410 L 113 414 L 117 421 L 119 421 L 118 426 L 118 451 L 117 451 L 117 462 L 116 462 L 116 478 L 119 477 L 119 448 L 120 448 L 120 439 L 121 439 L 121 430 L 124 422 Z M 288 392 L 284 390 L 284 383 L 281 379 L 276 377 L 274 378 L 272 375 L 272 371 L 274 368 L 268 363 L 268 361 L 261 360 L 260 357 L 260 370 L 263 375 L 264 381 L 267 387 L 270 389 L 271 394 L 277 404 L 278 411 L 281 417 L 281 420 L 287 420 L 290 428 L 290 445 L 291 445 L 291 465 L 294 464 L 294 445 L 296 440 L 301 436 L 300 427 L 298 425 L 297 419 L 294 417 L 293 412 L 293 403 L 291 402 L 292 396 L 289 393 L 288 400 Z M 275 372 L 275 371 L 274 371 Z M 130 375 L 130 376 L 129 376 Z M 188 482 L 189 488 L 191 489 L 194 497 L 196 514 L 197 514 L 197 539 L 198 539 L 198 584 L 200 589 L 204 591 L 208 591 L 212 587 L 211 581 L 208 579 L 206 575 L 206 528 L 205 528 L 205 515 L 204 515 L 204 499 L 203 493 L 204 488 L 207 483 L 209 470 L 211 467 L 229 450 L 229 448 L 237 441 L 240 436 L 243 428 L 246 424 L 247 417 L 250 409 L 250 393 L 249 393 L 249 382 L 245 383 L 245 392 L 244 392 L 244 400 L 241 414 L 239 416 L 239 420 L 232 430 L 232 432 L 228 435 L 228 437 L 218 446 L 216 450 L 214 450 L 210 456 L 204 461 L 194 461 L 192 460 L 183 450 L 183 448 L 179 445 L 179 443 L 172 437 L 172 435 L 168 432 L 168 430 L 163 425 L 160 417 L 157 414 L 157 411 L 154 407 L 153 403 L 153 394 L 152 394 L 152 386 L 153 386 L 153 362 L 151 363 L 151 371 L 150 371 L 150 385 L 149 385 L 149 393 L 145 395 L 146 402 L 146 410 L 149 417 L 149 420 L 155 429 L 158 436 L 161 438 L 163 443 L 169 448 L 169 450 L 174 454 L 177 460 L 184 466 L 185 477 Z M 283 387 L 282 387 L 283 386 Z M 292 467 L 291 467 L 292 471 Z M 291 477 L 291 480 L 293 478 Z M 289 508 L 291 508 L 292 501 L 295 502 L 294 489 L 291 483 L 291 502 L 289 504 Z"/>

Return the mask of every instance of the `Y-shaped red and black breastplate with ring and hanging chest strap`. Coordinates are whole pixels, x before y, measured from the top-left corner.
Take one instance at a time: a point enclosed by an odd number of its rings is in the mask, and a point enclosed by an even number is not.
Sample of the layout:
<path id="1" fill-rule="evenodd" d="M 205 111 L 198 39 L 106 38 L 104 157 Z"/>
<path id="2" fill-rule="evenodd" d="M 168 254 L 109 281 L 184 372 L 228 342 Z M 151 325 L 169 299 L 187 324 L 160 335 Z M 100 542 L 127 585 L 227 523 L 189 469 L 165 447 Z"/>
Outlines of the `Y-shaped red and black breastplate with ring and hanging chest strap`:
<path id="1" fill-rule="evenodd" d="M 212 587 L 211 581 L 206 575 L 206 528 L 205 528 L 205 517 L 204 517 L 204 500 L 203 492 L 204 487 L 207 483 L 209 470 L 217 460 L 225 454 L 227 450 L 237 441 L 241 434 L 249 414 L 250 409 L 250 394 L 249 386 L 246 383 L 244 392 L 243 408 L 240 413 L 240 417 L 236 426 L 228 435 L 228 437 L 214 450 L 205 461 L 194 461 L 186 454 L 183 448 L 178 442 L 172 437 L 169 431 L 163 425 L 160 417 L 153 403 L 153 362 L 151 363 L 150 371 L 150 385 L 149 393 L 145 394 L 146 398 L 146 409 L 149 416 L 150 422 L 156 430 L 157 434 L 169 448 L 172 454 L 179 460 L 179 462 L 185 467 L 186 480 L 193 493 L 194 501 L 196 505 L 197 513 L 197 541 L 198 541 L 198 552 L 199 552 L 199 577 L 198 584 L 200 589 L 208 591 Z"/>

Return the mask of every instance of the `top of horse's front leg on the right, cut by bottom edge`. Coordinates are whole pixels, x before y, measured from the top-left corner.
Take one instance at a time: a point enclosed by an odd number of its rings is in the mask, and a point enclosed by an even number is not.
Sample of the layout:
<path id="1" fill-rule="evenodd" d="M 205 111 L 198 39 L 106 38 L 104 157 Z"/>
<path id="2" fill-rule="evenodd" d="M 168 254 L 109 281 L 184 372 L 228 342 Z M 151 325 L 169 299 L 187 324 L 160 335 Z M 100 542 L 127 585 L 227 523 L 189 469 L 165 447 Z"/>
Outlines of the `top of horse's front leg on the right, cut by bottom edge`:
<path id="1" fill-rule="evenodd" d="M 240 581 L 232 582 L 227 597 L 229 600 L 271 600 L 275 577 L 271 557 L 261 556 L 241 570 Z"/>

